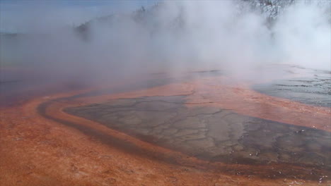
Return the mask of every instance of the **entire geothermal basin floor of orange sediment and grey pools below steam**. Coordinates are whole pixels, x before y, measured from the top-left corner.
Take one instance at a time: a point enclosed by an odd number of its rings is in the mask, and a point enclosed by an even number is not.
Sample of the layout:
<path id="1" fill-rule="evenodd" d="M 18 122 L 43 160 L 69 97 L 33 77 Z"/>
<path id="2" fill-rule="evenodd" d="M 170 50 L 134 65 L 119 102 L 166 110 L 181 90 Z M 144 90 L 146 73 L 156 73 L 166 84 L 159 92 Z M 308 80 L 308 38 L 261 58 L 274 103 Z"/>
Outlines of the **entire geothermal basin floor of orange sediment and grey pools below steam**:
<path id="1" fill-rule="evenodd" d="M 0 180 L 330 185 L 330 72 L 277 68 L 282 78 L 213 70 L 36 94 L 1 109 Z"/>

